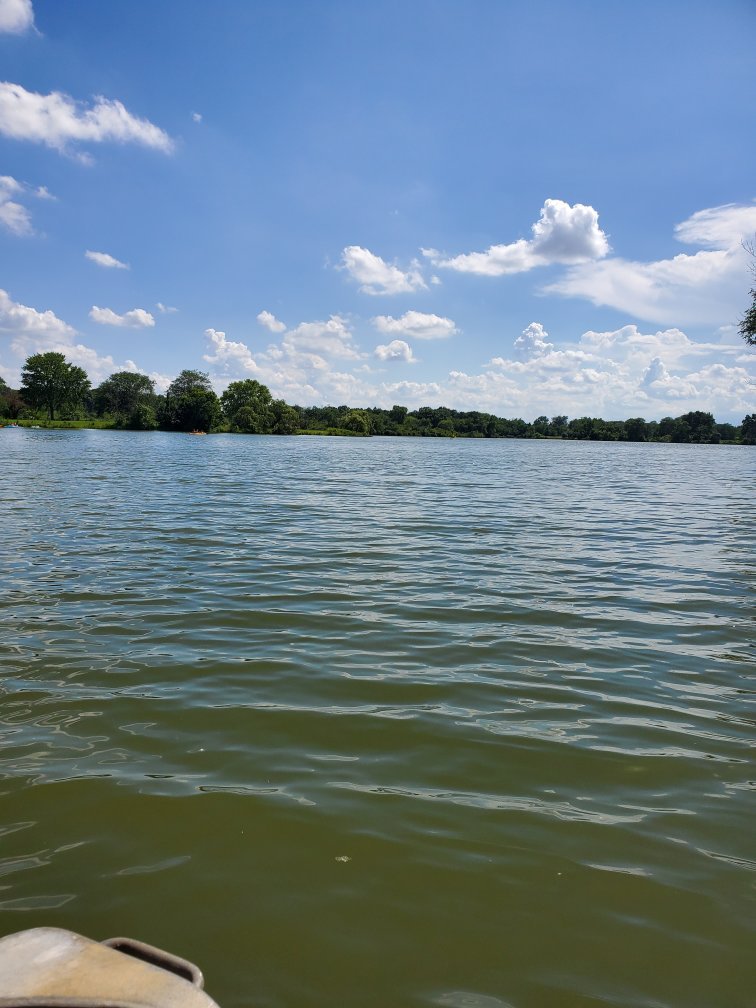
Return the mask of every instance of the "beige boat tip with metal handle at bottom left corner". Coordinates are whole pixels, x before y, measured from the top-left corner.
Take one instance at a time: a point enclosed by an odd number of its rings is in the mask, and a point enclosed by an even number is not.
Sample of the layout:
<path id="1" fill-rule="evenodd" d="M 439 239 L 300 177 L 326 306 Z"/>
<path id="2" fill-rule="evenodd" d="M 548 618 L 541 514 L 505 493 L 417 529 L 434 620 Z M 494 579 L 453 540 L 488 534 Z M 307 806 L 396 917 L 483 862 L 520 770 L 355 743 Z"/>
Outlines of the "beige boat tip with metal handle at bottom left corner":
<path id="1" fill-rule="evenodd" d="M 193 963 L 133 938 L 32 927 L 0 939 L 3 1008 L 218 1008 L 203 983 Z"/>

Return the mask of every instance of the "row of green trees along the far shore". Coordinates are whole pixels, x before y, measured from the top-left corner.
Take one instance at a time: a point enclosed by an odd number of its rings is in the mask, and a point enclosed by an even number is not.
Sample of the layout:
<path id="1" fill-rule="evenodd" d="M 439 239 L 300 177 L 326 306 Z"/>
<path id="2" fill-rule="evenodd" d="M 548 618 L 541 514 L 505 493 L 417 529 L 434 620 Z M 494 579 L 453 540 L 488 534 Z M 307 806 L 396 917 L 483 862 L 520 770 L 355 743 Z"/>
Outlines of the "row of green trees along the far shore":
<path id="1" fill-rule="evenodd" d="M 80 420 L 133 430 L 228 430 L 235 433 L 384 434 L 401 437 L 561 437 L 579 440 L 756 445 L 756 413 L 739 425 L 700 410 L 661 420 L 538 416 L 532 423 L 445 406 L 354 409 L 290 406 L 254 379 L 232 382 L 218 396 L 201 371 L 181 371 L 164 395 L 147 375 L 112 374 L 93 388 L 62 354 L 34 354 L 18 390 L 0 379 L 0 416 L 21 421 Z"/>

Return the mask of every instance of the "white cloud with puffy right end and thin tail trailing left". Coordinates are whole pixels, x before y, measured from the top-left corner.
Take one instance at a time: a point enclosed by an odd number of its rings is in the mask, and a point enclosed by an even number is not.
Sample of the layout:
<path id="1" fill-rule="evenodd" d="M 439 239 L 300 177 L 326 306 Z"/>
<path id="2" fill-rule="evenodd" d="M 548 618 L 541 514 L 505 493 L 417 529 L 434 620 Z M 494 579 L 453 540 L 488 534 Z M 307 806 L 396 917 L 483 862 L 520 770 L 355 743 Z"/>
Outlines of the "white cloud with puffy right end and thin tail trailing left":
<path id="1" fill-rule="evenodd" d="M 540 218 L 532 225 L 532 238 L 520 238 L 508 245 L 492 245 L 485 252 L 470 252 L 443 258 L 435 249 L 422 253 L 435 266 L 461 273 L 504 276 L 523 273 L 548 263 L 580 263 L 600 259 L 609 252 L 607 236 L 599 227 L 593 207 L 562 200 L 546 200 Z"/>

